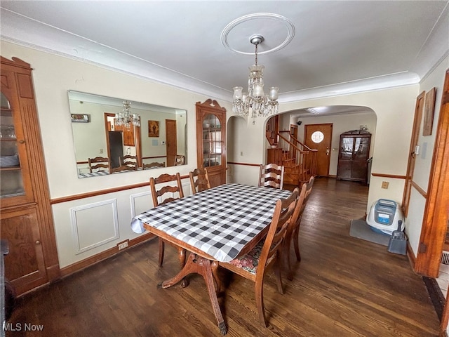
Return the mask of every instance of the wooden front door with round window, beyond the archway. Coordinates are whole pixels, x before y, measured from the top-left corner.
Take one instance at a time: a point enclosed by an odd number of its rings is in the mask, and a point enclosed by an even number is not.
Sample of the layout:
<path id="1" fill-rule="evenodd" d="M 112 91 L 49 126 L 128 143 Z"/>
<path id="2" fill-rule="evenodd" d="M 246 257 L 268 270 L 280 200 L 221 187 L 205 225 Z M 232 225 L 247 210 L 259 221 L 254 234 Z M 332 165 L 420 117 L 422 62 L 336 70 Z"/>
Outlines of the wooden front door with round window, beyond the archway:
<path id="1" fill-rule="evenodd" d="M 316 154 L 316 176 L 329 176 L 330 146 L 332 144 L 333 124 L 304 125 L 304 144 Z"/>

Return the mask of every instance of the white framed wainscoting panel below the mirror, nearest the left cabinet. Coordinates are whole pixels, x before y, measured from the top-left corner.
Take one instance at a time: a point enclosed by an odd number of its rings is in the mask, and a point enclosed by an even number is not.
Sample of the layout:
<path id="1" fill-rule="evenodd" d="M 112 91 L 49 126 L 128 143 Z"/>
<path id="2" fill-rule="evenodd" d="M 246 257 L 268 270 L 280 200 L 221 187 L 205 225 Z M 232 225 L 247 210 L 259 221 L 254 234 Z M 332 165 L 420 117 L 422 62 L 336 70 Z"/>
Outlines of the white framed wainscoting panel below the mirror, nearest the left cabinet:
<path id="1" fill-rule="evenodd" d="M 70 215 L 76 254 L 119 239 L 116 199 L 72 207 Z"/>

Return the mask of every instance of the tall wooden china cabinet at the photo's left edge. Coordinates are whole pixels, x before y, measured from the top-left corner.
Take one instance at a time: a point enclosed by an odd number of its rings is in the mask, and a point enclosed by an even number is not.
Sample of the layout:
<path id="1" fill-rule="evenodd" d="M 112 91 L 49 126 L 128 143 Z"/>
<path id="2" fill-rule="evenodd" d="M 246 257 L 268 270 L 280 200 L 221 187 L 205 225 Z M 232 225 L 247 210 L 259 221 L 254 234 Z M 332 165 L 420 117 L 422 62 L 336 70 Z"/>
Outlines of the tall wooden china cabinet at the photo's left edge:
<path id="1" fill-rule="evenodd" d="M 18 295 L 60 277 L 32 69 L 1 57 L 0 222 Z"/>

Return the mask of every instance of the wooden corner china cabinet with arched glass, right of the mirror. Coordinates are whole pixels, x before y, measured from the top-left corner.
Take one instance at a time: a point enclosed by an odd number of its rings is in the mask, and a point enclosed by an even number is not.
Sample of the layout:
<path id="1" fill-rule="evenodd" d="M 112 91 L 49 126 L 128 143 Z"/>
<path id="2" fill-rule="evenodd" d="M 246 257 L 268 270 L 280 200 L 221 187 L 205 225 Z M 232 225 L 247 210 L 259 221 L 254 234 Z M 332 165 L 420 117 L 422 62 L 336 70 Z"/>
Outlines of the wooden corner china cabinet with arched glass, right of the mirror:
<path id="1" fill-rule="evenodd" d="M 196 103 L 196 157 L 210 186 L 226 183 L 226 109 L 216 100 Z"/>

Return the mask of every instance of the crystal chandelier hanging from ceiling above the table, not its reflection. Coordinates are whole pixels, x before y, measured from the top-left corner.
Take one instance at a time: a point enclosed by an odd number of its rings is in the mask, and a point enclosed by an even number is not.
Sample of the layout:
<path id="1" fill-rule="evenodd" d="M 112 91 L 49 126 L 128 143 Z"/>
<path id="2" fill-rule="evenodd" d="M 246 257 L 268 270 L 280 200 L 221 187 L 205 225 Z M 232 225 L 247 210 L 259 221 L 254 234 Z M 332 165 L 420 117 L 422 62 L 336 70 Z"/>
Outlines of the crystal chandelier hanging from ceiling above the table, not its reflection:
<path id="1" fill-rule="evenodd" d="M 250 37 L 250 43 L 255 46 L 255 64 L 249 67 L 248 93 L 243 92 L 243 87 L 234 86 L 234 101 L 232 111 L 234 114 L 248 116 L 251 110 L 253 124 L 257 116 L 268 116 L 278 112 L 279 88 L 272 86 L 268 93 L 264 93 L 264 66 L 257 65 L 257 46 L 264 41 L 262 35 Z"/>

